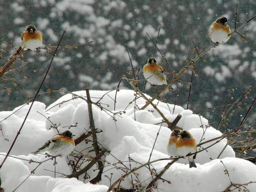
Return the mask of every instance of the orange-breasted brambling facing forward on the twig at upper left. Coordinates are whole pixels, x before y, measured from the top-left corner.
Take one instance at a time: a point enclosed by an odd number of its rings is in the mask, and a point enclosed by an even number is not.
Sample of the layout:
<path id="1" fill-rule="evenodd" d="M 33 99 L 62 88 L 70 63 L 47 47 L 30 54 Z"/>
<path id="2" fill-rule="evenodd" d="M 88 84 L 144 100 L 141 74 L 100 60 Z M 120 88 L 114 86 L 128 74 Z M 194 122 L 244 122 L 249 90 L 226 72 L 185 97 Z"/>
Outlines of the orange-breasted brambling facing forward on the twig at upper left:
<path id="1" fill-rule="evenodd" d="M 42 36 L 34 25 L 27 26 L 26 30 L 21 34 L 22 43 L 20 47 L 24 50 L 30 49 L 34 51 L 42 46 Z"/>

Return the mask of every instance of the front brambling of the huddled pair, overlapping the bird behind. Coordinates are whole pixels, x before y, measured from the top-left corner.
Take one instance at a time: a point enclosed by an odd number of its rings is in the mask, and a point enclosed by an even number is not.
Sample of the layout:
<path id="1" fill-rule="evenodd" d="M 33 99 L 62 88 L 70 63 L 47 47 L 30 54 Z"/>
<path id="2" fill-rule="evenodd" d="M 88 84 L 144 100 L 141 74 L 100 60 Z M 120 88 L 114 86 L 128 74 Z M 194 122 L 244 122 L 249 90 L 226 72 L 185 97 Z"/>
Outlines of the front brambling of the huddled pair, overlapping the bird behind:
<path id="1" fill-rule="evenodd" d="M 176 141 L 176 149 L 179 156 L 187 156 L 188 154 L 197 152 L 196 150 L 196 141 L 193 139 L 192 135 L 188 131 L 182 131 L 178 135 L 178 139 Z M 188 156 L 189 168 L 196 167 L 194 159 L 196 158 L 196 154 L 193 156 Z"/>

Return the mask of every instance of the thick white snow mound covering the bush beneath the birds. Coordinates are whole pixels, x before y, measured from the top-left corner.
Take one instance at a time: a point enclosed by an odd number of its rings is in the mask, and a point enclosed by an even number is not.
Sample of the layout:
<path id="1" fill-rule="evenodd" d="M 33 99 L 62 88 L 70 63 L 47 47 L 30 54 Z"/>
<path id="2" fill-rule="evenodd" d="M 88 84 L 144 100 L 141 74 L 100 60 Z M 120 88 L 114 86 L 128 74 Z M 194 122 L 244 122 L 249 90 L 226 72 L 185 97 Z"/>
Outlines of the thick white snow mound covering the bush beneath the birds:
<path id="1" fill-rule="evenodd" d="M 115 94 L 116 108 L 114 111 Z M 106 160 L 104 162 L 105 167 L 102 180 L 98 184 L 89 183 L 89 180 L 98 173 L 96 166 L 87 172 L 90 179 L 84 180 L 84 175 L 80 176 L 79 180 L 65 178 L 65 175 L 72 172 L 72 168 L 67 162 L 74 160 L 73 156 L 57 157 L 58 164 L 54 167 L 54 160 L 47 160 L 49 158 L 46 158 L 45 155 L 30 154 L 57 134 L 56 129 L 49 129 L 52 123 L 58 125 L 60 132 L 67 130 L 70 125 L 76 125 L 76 127 L 70 127 L 69 129 L 76 135 L 74 139 L 90 131 L 88 104 L 82 99 L 86 99 L 86 91 L 76 91 L 73 96 L 71 94 L 64 95 L 46 109 L 44 103 L 35 102 L 11 150 L 11 156 L 6 159 L 0 169 L 1 187 L 4 188 L 4 192 L 12 192 L 20 184 L 16 192 L 106 192 L 110 184 L 113 184 L 120 176 L 125 174 L 125 170 L 116 169 L 117 166 L 127 166 L 129 169 L 136 168 L 147 163 L 149 158 L 150 161 L 164 158 L 164 160 L 152 163 L 151 166 L 151 169 L 154 167 L 156 172 L 160 172 L 168 162 L 171 162 L 170 159 L 167 159 L 169 158 L 167 143 L 171 131 L 165 123 L 161 124 L 162 117 L 151 105 L 146 107 L 145 110 L 134 110 L 134 94 L 135 92 L 131 90 L 120 90 L 117 93 L 116 91 L 90 91 L 92 101 L 98 102 L 105 108 L 101 110 L 100 107 L 92 105 L 95 127 L 98 131 L 102 131 L 97 133 L 98 143 L 110 151 L 103 158 L 103 160 Z M 80 98 L 76 95 L 79 95 Z M 150 96 L 146 96 L 150 98 Z M 136 99 L 136 109 L 141 108 L 144 104 L 145 100 L 142 97 Z M 208 141 L 222 135 L 220 131 L 208 125 L 207 119 L 193 114 L 190 110 L 184 110 L 179 106 L 174 108 L 172 104 L 157 100 L 154 101 L 154 104 L 170 122 L 178 114 L 182 115 L 177 126 L 189 131 L 197 144 L 200 141 Z M 22 106 L 13 111 L 0 112 L 0 125 L 2 126 L 2 133 L 0 132 L 0 162 L 8 152 L 30 107 L 26 104 Z M 49 117 L 51 122 L 46 117 Z M 88 139 L 92 140 L 90 137 Z M 215 142 L 204 144 L 202 147 L 206 148 Z M 221 192 L 225 191 L 231 184 L 230 181 L 233 184 L 255 182 L 256 166 L 247 160 L 235 158 L 231 146 L 227 145 L 218 158 L 226 143 L 227 140 L 222 139 L 207 150 L 198 152 L 195 159 L 197 168 L 189 168 L 188 160 L 180 158 L 162 176 L 170 183 L 158 180 L 158 189 L 162 192 Z M 202 147 L 198 147 L 197 150 L 202 150 Z M 91 150 L 91 142 L 82 142 L 76 145 L 73 152 L 95 156 L 95 153 Z M 85 160 L 86 158 L 89 159 L 87 156 L 84 156 L 84 158 Z M 29 160 L 34 162 L 30 163 Z M 44 160 L 47 161 L 42 162 Z M 38 166 L 38 162 L 42 162 L 42 164 Z M 88 162 L 84 162 L 81 168 L 86 164 Z M 37 166 L 38 168 L 36 168 Z M 36 170 L 34 170 L 35 168 Z M 54 168 L 56 169 L 55 178 Z M 229 176 L 225 174 L 225 169 L 228 170 Z M 33 170 L 34 174 L 29 176 L 30 171 Z M 144 166 L 135 172 L 136 176 L 131 174 L 125 177 L 120 186 L 130 188 L 133 181 L 135 184 L 141 182 L 140 184 L 146 187 L 151 182 L 152 176 L 150 176 L 148 166 Z M 254 192 L 256 191 L 256 183 L 250 183 L 246 188 L 250 192 Z M 237 191 L 237 189 L 234 190 L 234 192 Z"/>

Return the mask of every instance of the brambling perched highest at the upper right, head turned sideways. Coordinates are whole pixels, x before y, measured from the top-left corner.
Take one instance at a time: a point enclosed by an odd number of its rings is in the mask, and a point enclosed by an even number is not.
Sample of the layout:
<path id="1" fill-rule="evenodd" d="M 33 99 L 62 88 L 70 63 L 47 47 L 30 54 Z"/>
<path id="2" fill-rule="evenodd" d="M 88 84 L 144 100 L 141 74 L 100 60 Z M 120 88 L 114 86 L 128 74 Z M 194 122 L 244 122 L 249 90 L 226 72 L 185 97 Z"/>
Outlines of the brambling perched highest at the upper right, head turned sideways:
<path id="1" fill-rule="evenodd" d="M 216 44 L 224 44 L 230 38 L 230 28 L 226 17 L 220 17 L 209 28 L 209 36 Z"/>

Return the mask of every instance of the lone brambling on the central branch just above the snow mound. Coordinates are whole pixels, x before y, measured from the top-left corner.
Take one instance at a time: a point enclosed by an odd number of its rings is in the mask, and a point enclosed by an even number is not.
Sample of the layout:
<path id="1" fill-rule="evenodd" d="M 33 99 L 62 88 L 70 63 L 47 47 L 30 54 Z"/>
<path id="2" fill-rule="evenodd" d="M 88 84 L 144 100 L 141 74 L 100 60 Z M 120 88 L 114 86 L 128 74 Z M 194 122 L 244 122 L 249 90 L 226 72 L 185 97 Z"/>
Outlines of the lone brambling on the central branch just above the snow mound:
<path id="1" fill-rule="evenodd" d="M 158 65 L 155 57 L 150 57 L 148 59 L 148 63 L 143 67 L 143 75 L 145 79 L 153 86 L 162 84 L 167 85 L 168 83 L 164 70 L 160 65 Z M 174 90 L 172 87 L 169 88 Z"/>

